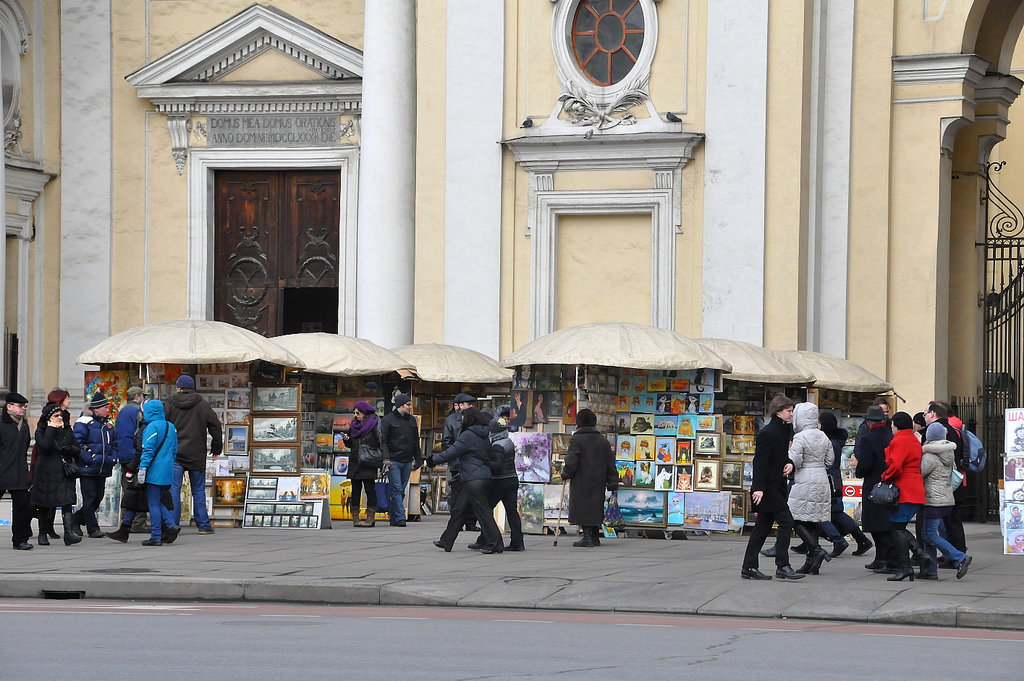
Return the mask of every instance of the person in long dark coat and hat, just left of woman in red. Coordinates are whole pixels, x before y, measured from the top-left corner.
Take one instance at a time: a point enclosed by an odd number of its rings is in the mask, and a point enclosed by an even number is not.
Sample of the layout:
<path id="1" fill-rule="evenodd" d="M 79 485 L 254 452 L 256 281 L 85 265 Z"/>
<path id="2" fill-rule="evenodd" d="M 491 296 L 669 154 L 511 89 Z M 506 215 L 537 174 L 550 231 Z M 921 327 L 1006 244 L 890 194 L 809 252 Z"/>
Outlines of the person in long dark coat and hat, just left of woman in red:
<path id="1" fill-rule="evenodd" d="M 886 423 L 886 415 L 881 407 L 871 405 L 864 416 L 868 429 L 860 440 L 854 456 L 857 457 L 857 477 L 864 479 L 861 486 L 861 528 L 874 540 L 874 560 L 864 565 L 867 569 L 888 571 L 895 569 L 889 537 L 889 509 L 867 501 L 886 470 L 886 448 L 892 441 L 892 429 Z M 892 564 L 889 564 L 891 563 Z"/>

